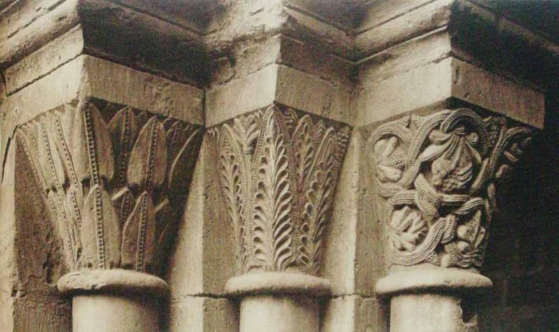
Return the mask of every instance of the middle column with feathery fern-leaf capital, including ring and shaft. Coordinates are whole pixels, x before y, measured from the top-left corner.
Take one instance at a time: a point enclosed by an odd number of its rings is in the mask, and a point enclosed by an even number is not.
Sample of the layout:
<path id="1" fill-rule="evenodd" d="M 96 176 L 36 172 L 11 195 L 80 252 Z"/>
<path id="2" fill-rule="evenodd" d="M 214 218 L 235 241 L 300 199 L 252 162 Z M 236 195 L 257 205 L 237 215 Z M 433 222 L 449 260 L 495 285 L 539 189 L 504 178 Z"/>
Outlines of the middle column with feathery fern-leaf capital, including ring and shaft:
<path id="1" fill-rule="evenodd" d="M 349 126 L 272 106 L 217 128 L 218 168 L 236 241 L 240 331 L 319 331 L 324 231 Z"/>

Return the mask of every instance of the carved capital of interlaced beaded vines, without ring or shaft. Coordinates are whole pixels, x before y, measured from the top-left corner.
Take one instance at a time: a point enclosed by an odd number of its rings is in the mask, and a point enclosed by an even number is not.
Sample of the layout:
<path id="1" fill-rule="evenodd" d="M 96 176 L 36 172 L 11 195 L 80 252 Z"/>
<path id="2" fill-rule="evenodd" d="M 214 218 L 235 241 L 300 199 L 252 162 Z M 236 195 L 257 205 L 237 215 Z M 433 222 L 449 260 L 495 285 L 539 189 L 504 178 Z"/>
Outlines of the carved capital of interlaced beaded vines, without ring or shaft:
<path id="1" fill-rule="evenodd" d="M 379 126 L 368 146 L 390 263 L 481 266 L 498 186 L 530 135 L 467 109 Z"/>

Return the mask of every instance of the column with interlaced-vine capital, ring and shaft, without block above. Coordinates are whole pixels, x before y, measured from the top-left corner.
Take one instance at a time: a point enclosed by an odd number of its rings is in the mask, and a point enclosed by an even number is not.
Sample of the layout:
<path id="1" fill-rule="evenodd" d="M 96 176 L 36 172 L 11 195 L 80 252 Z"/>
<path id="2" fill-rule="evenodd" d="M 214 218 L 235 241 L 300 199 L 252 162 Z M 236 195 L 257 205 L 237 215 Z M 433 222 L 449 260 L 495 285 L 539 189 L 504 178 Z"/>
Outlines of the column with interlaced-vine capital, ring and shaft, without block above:
<path id="1" fill-rule="evenodd" d="M 377 209 L 386 225 L 391 331 L 472 331 L 471 301 L 502 181 L 532 130 L 466 108 L 407 115 L 368 140 Z"/>

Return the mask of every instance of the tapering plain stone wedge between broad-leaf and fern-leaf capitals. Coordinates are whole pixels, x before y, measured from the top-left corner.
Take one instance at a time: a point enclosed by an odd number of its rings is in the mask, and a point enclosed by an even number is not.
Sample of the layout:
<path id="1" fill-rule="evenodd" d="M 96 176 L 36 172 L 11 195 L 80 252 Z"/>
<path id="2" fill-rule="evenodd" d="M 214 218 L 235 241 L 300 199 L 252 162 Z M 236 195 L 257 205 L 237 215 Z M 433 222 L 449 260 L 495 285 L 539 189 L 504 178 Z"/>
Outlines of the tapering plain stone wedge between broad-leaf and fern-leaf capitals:
<path id="1" fill-rule="evenodd" d="M 194 169 L 184 218 L 177 229 L 167 277 L 173 298 L 222 296 L 226 281 L 234 274 L 233 229 L 226 220 L 212 145 L 206 135 Z"/>

